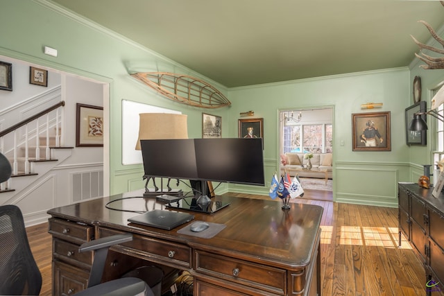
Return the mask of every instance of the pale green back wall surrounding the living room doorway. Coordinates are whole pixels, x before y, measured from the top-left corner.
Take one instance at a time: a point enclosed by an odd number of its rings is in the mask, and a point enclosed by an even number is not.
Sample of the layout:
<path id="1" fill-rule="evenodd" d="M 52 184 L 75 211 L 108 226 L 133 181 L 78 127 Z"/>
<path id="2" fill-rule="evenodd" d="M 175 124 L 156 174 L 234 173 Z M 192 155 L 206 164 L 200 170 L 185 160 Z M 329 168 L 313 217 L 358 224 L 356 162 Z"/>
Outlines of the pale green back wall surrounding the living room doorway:
<path id="1" fill-rule="evenodd" d="M 385 69 L 340 76 L 230 89 L 230 134 L 239 112 L 264 118 L 266 176 L 278 171 L 278 110 L 334 108 L 334 200 L 395 206 L 397 182 L 409 180 L 404 109 L 409 105 L 409 69 Z M 361 110 L 363 103 L 384 103 Z M 352 151 L 352 114 L 391 112 L 391 151 Z M 343 146 L 341 146 L 343 141 Z M 234 186 L 234 188 L 239 186 Z M 234 189 L 236 190 L 236 189 Z"/>

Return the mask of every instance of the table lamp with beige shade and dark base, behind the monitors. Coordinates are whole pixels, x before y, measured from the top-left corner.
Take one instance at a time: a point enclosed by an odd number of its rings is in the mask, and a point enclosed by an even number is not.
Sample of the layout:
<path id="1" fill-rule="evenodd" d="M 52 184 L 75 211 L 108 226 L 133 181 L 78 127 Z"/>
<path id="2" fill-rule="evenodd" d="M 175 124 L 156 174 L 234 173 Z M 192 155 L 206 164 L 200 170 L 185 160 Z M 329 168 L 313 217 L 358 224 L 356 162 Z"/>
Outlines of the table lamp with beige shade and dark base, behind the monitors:
<path id="1" fill-rule="evenodd" d="M 188 139 L 187 115 L 173 113 L 140 113 L 139 114 L 139 138 L 136 150 L 141 150 L 140 140 L 162 140 L 162 139 Z M 149 191 L 148 182 L 153 180 L 154 190 Z M 144 196 L 155 196 L 161 194 L 180 195 L 181 190 L 173 190 L 167 183 L 168 191 L 163 191 L 163 178 L 160 179 L 160 190 L 155 184 L 152 176 L 144 175 Z"/>

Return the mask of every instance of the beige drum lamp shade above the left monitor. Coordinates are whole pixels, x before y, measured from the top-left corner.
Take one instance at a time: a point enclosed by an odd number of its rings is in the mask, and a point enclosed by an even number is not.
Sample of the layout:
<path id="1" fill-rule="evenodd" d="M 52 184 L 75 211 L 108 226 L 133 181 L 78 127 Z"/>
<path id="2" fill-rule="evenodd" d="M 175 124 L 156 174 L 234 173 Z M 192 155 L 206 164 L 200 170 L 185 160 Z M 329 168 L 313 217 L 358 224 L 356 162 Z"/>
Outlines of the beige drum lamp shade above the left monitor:
<path id="1" fill-rule="evenodd" d="M 140 140 L 161 139 L 188 139 L 187 115 L 140 113 L 136 150 L 141 150 Z"/>

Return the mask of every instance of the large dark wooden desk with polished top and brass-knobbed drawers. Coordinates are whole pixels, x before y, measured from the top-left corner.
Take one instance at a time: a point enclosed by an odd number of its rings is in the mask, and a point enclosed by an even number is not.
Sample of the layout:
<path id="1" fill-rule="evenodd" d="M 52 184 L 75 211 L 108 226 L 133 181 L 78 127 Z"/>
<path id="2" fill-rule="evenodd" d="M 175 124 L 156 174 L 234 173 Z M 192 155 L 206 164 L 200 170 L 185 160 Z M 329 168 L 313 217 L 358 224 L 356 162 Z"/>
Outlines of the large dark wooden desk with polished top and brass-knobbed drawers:
<path id="1" fill-rule="evenodd" d="M 112 247 L 106 279 L 119 277 L 146 260 L 167 268 L 188 270 L 194 276 L 194 295 L 321 295 L 320 236 L 323 208 L 311 204 L 217 196 L 231 204 L 214 214 L 194 213 L 195 220 L 226 225 L 213 238 L 178 234 L 128 223 L 136 213 L 105 208 L 110 200 L 119 209 L 165 209 L 142 191 L 114 195 L 51 209 L 53 235 L 53 295 L 85 288 L 91 254 L 78 254 L 84 241 L 121 232 L 132 242 Z M 124 256 L 122 256 L 122 254 Z M 115 257 L 115 258 L 114 258 Z"/>

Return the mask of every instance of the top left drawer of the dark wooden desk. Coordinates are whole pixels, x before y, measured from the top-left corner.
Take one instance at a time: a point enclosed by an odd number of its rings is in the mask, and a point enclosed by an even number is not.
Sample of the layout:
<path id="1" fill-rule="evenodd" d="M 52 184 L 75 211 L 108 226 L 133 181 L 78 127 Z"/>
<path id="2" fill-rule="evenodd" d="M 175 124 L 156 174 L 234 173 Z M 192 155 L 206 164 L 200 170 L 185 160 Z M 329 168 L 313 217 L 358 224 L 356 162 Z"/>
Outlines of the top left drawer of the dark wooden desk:
<path id="1" fill-rule="evenodd" d="M 79 245 L 94 238 L 94 227 L 56 218 L 49 219 L 49 233 Z"/>

